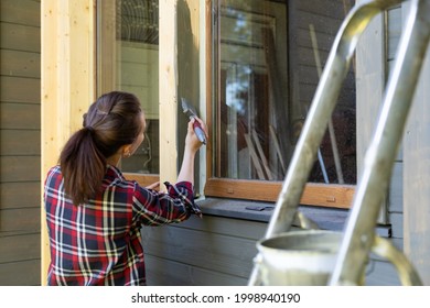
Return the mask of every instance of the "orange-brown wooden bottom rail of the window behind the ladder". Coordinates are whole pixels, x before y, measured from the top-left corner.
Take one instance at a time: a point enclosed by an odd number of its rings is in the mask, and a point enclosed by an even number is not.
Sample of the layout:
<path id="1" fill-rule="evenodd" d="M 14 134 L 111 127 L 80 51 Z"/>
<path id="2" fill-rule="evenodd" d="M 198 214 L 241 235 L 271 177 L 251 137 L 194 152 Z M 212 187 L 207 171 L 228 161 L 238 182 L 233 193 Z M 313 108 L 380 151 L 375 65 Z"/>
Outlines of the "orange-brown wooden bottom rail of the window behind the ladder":
<path id="1" fill-rule="evenodd" d="M 281 189 L 281 182 L 209 178 L 206 183 L 205 196 L 275 202 Z M 300 204 L 348 209 L 354 194 L 354 185 L 309 183 L 304 188 Z"/>

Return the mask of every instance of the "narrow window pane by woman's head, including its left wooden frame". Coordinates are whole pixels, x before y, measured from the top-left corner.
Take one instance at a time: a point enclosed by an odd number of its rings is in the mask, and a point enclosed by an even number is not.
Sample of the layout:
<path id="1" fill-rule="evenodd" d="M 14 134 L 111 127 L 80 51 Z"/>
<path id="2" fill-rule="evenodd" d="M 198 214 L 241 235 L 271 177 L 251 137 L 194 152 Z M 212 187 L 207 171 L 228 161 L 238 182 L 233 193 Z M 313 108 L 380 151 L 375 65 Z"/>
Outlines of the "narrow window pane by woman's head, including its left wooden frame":
<path id="1" fill-rule="evenodd" d="M 159 1 L 99 0 L 98 91 L 135 94 L 147 118 L 146 136 L 123 172 L 159 173 Z M 110 51 L 110 48 L 112 51 Z"/>

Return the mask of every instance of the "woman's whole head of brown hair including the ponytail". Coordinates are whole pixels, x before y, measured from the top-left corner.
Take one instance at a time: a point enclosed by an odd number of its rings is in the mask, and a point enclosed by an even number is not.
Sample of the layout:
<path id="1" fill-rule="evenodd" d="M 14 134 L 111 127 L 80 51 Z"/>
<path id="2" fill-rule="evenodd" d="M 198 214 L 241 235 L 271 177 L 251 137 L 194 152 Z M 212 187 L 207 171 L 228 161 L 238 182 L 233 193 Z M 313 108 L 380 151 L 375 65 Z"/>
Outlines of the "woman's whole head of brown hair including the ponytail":
<path id="1" fill-rule="evenodd" d="M 122 145 L 132 144 L 142 131 L 138 98 L 112 91 L 99 97 L 84 114 L 60 155 L 66 195 L 75 205 L 93 198 L 101 187 L 106 161 Z"/>

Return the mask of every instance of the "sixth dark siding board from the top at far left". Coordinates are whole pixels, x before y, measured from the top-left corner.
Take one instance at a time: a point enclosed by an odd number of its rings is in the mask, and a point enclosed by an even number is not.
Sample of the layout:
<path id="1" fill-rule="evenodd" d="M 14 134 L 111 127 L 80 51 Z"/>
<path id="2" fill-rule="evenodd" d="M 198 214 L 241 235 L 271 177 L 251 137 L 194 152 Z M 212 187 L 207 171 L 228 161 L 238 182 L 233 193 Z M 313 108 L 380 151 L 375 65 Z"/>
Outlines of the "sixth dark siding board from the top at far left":
<path id="1" fill-rule="evenodd" d="M 40 130 L 0 130 L 0 153 L 12 155 L 41 155 Z"/>

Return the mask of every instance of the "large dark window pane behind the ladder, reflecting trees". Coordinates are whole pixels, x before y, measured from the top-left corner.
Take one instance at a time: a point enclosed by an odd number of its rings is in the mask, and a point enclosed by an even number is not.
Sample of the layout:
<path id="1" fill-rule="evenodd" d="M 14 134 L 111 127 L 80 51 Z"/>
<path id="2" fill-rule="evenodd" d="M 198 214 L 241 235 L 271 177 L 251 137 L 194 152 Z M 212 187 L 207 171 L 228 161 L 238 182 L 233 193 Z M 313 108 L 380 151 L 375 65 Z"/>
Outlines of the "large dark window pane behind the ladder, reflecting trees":
<path id="1" fill-rule="evenodd" d="M 353 1 L 214 1 L 213 174 L 282 180 Z M 310 182 L 355 184 L 355 75 L 343 85 Z M 336 158 L 336 160 L 335 160 Z M 340 164 L 335 164 L 340 162 Z"/>

